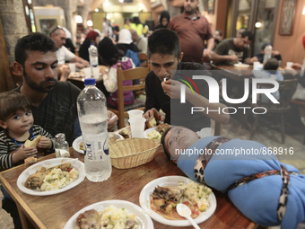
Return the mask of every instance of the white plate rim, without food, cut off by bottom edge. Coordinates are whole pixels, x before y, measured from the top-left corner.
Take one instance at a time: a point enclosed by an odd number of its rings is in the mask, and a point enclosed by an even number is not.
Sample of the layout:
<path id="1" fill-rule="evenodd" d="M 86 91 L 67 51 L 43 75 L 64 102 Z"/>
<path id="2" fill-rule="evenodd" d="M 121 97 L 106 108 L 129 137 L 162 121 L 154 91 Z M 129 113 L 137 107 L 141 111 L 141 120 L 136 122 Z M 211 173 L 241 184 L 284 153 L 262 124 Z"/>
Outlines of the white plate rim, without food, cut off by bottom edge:
<path id="1" fill-rule="evenodd" d="M 153 229 L 153 220 L 144 212 L 144 210 L 141 207 L 138 207 L 134 203 L 125 201 L 125 200 L 119 200 L 119 199 L 111 199 L 106 201 L 101 201 L 95 204 L 92 204 L 87 207 L 83 207 L 83 209 L 79 210 L 72 216 L 68 222 L 66 222 L 64 229 L 74 229 L 76 225 L 76 218 L 81 213 L 87 210 L 95 209 L 98 212 L 106 207 L 109 207 L 110 205 L 113 205 L 114 207 L 120 208 L 124 207 L 132 214 L 135 214 L 136 220 L 141 226 L 141 229 Z"/>

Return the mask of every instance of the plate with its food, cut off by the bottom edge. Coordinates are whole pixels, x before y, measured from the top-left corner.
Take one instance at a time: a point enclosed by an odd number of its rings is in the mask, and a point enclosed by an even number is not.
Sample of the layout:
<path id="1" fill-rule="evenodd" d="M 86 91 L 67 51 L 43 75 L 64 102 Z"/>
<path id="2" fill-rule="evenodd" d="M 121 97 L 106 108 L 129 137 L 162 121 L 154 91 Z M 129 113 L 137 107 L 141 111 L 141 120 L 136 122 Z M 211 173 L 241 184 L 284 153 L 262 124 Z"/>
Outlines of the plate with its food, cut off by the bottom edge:
<path id="1" fill-rule="evenodd" d="M 88 220 L 91 220 L 94 228 L 106 225 L 103 228 L 153 229 L 153 220 L 141 207 L 120 199 L 101 201 L 83 207 L 66 222 L 64 229 L 74 229 L 76 226 L 86 225 Z M 119 224 L 120 227 L 118 227 Z M 112 225 L 112 227 L 107 227 L 107 225 Z"/>

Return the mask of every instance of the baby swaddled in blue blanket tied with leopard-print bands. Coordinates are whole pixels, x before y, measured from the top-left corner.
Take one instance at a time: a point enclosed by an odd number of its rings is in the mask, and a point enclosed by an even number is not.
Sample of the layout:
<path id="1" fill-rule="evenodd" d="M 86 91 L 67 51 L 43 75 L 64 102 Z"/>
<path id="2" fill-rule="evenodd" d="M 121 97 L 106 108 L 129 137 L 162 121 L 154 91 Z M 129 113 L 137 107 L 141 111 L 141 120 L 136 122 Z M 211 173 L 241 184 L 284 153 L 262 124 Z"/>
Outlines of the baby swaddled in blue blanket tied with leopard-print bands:
<path id="1" fill-rule="evenodd" d="M 161 143 L 165 154 L 190 179 L 227 192 L 235 207 L 253 222 L 296 228 L 305 221 L 305 176 L 292 165 L 280 163 L 265 145 L 227 137 L 200 139 L 181 127 L 170 128 Z"/>

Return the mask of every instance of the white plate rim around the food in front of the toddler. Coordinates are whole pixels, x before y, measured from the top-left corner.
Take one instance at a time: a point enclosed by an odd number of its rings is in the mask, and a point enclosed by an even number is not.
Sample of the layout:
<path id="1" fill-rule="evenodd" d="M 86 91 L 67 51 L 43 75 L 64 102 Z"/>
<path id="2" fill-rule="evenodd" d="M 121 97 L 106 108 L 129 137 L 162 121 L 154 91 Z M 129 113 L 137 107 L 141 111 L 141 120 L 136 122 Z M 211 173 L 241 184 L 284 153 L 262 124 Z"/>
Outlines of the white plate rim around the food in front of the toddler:
<path id="1" fill-rule="evenodd" d="M 24 186 L 24 182 L 28 179 L 28 177 L 35 173 L 36 171 L 38 171 L 41 167 L 43 167 L 44 165 L 51 165 L 51 164 L 55 164 L 55 163 L 61 163 L 61 162 L 65 162 L 66 160 L 70 160 L 71 158 L 54 158 L 54 159 L 49 159 L 40 163 L 35 163 L 33 165 L 31 165 L 29 168 L 27 168 L 25 171 L 22 172 L 22 174 L 19 175 L 18 180 L 17 180 L 17 186 L 18 188 L 29 195 L 32 196 L 48 196 L 48 195 L 54 195 L 54 194 L 58 194 L 60 192 L 64 192 L 68 189 L 72 189 L 74 188 L 76 185 L 78 185 L 79 183 L 81 183 L 84 178 L 85 178 L 85 172 L 84 172 L 84 164 L 79 161 L 79 160 L 75 160 L 73 163 L 71 163 L 71 166 L 78 170 L 79 175 L 78 178 L 69 183 L 68 185 L 66 185 L 63 189 L 57 189 L 57 190 L 47 190 L 47 191 L 39 191 L 39 190 L 33 190 L 33 189 L 28 189 Z"/>

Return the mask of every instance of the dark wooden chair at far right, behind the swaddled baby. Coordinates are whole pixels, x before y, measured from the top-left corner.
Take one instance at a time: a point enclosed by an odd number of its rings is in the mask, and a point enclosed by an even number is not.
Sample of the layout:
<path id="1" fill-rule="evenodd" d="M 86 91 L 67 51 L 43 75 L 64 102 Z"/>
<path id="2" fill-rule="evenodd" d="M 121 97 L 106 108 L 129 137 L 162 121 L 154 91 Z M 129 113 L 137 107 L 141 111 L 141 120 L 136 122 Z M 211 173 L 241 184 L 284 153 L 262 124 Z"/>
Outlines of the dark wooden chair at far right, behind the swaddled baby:
<path id="1" fill-rule="evenodd" d="M 278 81 L 278 83 L 279 83 L 279 92 L 280 92 L 280 99 L 278 100 L 280 102 L 279 104 L 274 104 L 270 100 L 268 100 L 269 101 L 268 103 L 263 103 L 260 100 L 260 98 L 258 98 L 257 104 L 252 104 L 252 108 L 263 107 L 267 110 L 266 111 L 267 114 L 274 114 L 280 118 L 281 137 L 282 137 L 282 142 L 284 143 L 285 114 L 291 109 L 290 104 L 292 102 L 292 95 L 296 90 L 298 81 L 296 79 L 289 79 L 289 80 Z M 257 84 L 257 87 L 270 88 L 271 84 Z M 247 122 L 248 127 L 250 128 L 250 134 L 251 134 L 250 138 L 254 136 L 254 133 L 257 129 L 258 120 L 262 115 L 264 114 L 257 114 L 253 117 L 253 121 L 251 123 Z"/>

